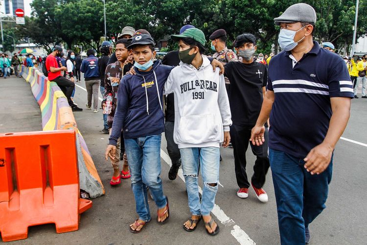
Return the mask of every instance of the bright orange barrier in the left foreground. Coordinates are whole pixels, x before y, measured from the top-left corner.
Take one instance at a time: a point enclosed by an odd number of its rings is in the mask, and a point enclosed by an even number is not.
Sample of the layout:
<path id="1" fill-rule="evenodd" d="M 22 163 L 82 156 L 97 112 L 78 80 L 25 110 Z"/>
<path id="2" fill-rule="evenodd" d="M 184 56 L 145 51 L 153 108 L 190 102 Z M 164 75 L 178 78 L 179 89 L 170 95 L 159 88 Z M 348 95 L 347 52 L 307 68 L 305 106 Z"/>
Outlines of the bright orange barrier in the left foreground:
<path id="1" fill-rule="evenodd" d="M 73 130 L 0 134 L 0 232 L 4 242 L 25 239 L 28 226 L 79 228 L 92 201 L 79 198 Z"/>

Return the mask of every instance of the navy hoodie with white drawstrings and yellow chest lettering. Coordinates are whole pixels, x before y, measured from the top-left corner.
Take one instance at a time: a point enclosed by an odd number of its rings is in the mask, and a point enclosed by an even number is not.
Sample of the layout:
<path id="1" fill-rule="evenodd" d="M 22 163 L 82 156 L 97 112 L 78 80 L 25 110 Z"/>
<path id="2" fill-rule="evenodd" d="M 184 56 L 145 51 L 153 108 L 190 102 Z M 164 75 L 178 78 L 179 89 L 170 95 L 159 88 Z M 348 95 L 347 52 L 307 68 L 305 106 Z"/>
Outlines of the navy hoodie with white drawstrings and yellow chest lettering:
<path id="1" fill-rule="evenodd" d="M 149 72 L 139 72 L 135 68 L 136 75 L 122 77 L 110 145 L 116 145 L 121 129 L 125 139 L 158 135 L 164 131 L 163 89 L 172 69 L 157 60 Z"/>

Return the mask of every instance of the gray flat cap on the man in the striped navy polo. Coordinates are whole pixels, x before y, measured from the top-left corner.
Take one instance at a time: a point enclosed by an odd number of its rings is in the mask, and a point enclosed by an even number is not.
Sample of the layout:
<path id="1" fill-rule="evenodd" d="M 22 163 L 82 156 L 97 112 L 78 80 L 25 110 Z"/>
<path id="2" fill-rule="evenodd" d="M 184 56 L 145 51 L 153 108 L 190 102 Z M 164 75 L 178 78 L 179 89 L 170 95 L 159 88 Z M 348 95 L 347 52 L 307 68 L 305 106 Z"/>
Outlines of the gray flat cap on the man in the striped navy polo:
<path id="1" fill-rule="evenodd" d="M 296 22 L 316 23 L 315 9 L 306 3 L 296 3 L 288 7 L 281 16 L 274 18 L 275 25 Z"/>

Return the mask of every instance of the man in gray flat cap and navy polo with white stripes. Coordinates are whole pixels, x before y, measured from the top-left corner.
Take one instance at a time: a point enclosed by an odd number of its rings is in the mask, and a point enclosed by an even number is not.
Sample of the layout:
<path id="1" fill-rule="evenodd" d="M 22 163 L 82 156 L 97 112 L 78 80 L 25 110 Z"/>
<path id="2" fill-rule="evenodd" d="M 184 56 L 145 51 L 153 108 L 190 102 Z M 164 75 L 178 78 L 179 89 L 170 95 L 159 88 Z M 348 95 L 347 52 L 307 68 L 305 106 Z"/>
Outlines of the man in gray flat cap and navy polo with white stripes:
<path id="1" fill-rule="evenodd" d="M 270 116 L 269 160 L 281 244 L 310 241 L 308 225 L 325 208 L 332 156 L 349 119 L 353 86 L 345 62 L 313 41 L 316 13 L 290 6 L 278 18 L 283 49 L 269 65 L 268 91 L 252 144 L 264 142 Z"/>

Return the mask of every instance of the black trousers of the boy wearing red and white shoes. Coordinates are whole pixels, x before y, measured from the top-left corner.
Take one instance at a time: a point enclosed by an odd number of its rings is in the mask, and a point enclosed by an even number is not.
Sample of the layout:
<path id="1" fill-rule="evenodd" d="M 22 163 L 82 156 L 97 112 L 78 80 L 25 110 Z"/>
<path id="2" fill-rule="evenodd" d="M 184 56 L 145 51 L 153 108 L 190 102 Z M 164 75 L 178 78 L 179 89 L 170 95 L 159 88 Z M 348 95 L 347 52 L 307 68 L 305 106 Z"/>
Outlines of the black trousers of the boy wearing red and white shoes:
<path id="1" fill-rule="evenodd" d="M 268 155 L 268 129 L 265 128 L 265 142 L 261 146 L 253 146 L 249 141 L 251 138 L 251 129 L 249 126 L 231 125 L 230 141 L 233 146 L 234 170 L 236 173 L 237 184 L 239 188 L 249 188 L 250 183 L 246 173 L 246 150 L 249 144 L 252 153 L 256 156 L 253 166 L 253 175 L 251 182 L 254 187 L 261 188 L 265 183 L 265 175 L 269 169 Z"/>

